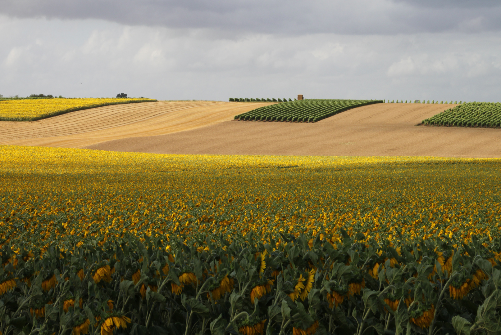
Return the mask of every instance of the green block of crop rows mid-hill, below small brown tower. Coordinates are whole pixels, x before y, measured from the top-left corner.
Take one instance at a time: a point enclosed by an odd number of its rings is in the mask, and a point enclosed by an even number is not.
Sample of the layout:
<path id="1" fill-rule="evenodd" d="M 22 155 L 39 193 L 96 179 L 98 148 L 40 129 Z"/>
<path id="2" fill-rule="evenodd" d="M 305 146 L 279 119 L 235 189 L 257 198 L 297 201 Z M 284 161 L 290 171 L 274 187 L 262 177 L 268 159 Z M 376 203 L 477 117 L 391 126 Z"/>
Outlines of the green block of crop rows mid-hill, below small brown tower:
<path id="1" fill-rule="evenodd" d="M 342 111 L 383 100 L 307 99 L 264 106 L 235 115 L 241 121 L 317 122 Z"/>

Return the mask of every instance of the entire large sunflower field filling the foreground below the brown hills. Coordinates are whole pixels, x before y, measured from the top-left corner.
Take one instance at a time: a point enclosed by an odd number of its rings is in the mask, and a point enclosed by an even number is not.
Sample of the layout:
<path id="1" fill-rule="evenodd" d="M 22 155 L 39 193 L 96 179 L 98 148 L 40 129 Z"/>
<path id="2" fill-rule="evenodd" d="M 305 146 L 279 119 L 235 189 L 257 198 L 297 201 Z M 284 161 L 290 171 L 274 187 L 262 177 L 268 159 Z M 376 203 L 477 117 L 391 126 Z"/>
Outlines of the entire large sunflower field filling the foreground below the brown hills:
<path id="1" fill-rule="evenodd" d="M 0 162 L 2 335 L 501 331 L 500 159 Z"/>

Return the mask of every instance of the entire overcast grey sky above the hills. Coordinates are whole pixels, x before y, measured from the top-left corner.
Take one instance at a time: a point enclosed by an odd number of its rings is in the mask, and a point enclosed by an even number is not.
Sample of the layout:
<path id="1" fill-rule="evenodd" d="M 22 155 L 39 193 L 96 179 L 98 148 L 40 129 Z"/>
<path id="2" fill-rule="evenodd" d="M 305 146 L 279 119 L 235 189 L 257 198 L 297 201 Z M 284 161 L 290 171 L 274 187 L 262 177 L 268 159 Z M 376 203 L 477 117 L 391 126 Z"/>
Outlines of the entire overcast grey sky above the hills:
<path id="1" fill-rule="evenodd" d="M 499 0 L 0 0 L 0 94 L 501 101 Z"/>

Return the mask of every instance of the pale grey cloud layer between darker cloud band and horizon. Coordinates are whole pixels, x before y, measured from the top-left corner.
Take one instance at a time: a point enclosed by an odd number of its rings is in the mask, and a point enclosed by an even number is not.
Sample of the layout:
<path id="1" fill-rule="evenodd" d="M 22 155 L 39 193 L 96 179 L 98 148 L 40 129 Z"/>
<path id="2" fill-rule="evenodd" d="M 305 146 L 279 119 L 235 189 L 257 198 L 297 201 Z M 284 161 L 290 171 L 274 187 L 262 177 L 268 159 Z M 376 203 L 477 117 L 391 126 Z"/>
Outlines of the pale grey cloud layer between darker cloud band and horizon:
<path id="1" fill-rule="evenodd" d="M 220 34 L 0 15 L 0 93 L 498 101 L 501 36 Z"/>

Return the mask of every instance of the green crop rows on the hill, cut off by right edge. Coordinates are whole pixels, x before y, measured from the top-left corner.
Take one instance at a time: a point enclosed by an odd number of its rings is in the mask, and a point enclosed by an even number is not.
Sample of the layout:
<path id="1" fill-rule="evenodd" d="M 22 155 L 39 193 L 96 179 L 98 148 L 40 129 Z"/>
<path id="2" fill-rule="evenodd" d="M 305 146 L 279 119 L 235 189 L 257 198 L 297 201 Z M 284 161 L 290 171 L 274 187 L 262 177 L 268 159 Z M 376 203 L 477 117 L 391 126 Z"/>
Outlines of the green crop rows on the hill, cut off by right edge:
<path id="1" fill-rule="evenodd" d="M 501 103 L 468 102 L 421 121 L 425 125 L 458 127 L 501 127 Z"/>

